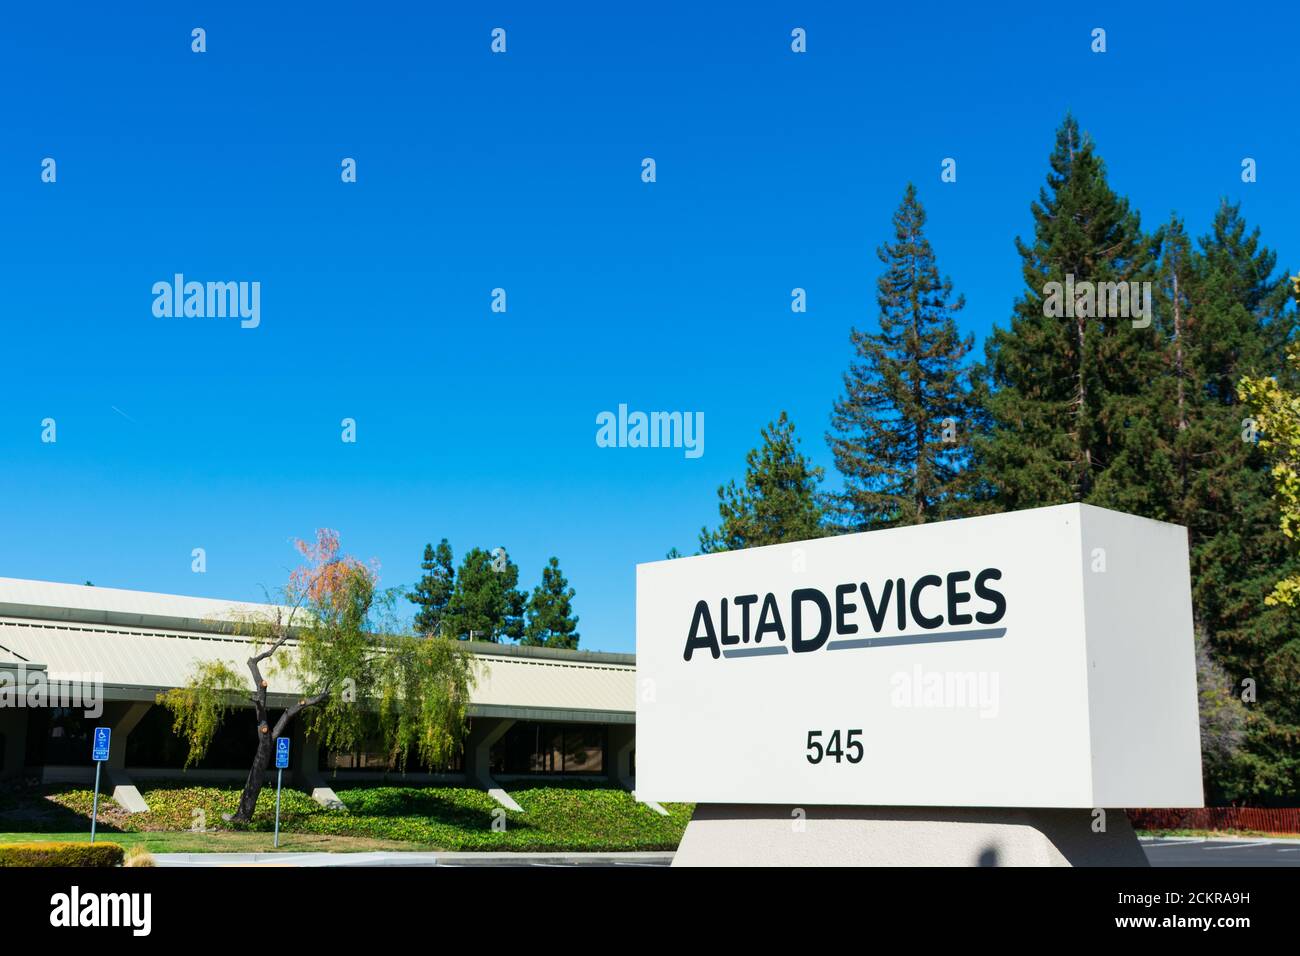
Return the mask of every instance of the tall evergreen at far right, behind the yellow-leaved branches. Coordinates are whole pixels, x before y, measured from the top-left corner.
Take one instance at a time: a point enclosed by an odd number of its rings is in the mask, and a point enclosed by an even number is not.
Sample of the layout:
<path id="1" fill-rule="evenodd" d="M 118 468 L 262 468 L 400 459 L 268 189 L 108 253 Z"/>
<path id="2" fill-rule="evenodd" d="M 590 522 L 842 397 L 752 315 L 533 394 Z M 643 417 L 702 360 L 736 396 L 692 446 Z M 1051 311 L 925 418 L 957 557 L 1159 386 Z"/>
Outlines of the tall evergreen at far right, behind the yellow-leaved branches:
<path id="1" fill-rule="evenodd" d="M 1251 680 L 1257 696 L 1244 752 L 1210 795 L 1278 801 L 1300 788 L 1300 623 L 1265 598 L 1300 562 L 1277 523 L 1269 459 L 1243 441 L 1251 408 L 1236 386 L 1243 376 L 1295 381 L 1283 359 L 1295 316 L 1277 256 L 1239 207 L 1221 203 L 1199 246 L 1178 316 L 1187 389 L 1174 447 L 1187 480 L 1174 520 L 1188 528 L 1197 628 L 1235 685 Z"/>

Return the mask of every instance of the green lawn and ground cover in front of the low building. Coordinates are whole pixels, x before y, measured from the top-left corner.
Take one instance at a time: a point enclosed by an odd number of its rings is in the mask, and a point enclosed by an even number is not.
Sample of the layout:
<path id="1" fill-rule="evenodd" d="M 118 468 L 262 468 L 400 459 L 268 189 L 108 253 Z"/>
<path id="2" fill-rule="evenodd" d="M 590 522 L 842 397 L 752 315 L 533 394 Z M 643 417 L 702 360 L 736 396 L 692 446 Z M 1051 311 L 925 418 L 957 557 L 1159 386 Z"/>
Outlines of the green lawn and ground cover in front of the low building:
<path id="1" fill-rule="evenodd" d="M 281 849 L 369 851 L 664 851 L 676 849 L 690 819 L 686 804 L 663 817 L 608 787 L 566 784 L 510 790 L 524 813 L 499 806 L 465 787 L 341 787 L 347 810 L 326 810 L 306 793 L 286 790 Z M 276 790 L 261 792 L 248 827 L 231 826 L 239 788 L 156 783 L 140 788 L 148 813 L 127 814 L 100 796 L 99 834 L 151 852 L 269 851 Z M 90 831 L 91 792 L 43 786 L 0 793 L 0 842 L 78 839 Z"/>

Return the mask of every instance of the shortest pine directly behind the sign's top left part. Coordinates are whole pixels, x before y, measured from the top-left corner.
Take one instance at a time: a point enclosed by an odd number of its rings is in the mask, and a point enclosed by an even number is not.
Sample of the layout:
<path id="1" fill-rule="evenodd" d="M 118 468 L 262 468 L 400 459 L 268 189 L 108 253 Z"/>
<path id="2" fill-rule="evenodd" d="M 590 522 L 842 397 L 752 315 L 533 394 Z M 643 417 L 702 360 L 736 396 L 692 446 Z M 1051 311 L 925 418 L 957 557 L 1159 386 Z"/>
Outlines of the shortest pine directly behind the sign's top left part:
<path id="1" fill-rule="evenodd" d="M 793 423 L 783 411 L 762 434 L 762 447 L 745 455 L 745 486 L 728 481 L 718 489 L 722 524 L 715 531 L 701 529 L 699 550 L 705 554 L 803 541 L 826 533 L 816 501 L 823 472 L 798 450 Z"/>

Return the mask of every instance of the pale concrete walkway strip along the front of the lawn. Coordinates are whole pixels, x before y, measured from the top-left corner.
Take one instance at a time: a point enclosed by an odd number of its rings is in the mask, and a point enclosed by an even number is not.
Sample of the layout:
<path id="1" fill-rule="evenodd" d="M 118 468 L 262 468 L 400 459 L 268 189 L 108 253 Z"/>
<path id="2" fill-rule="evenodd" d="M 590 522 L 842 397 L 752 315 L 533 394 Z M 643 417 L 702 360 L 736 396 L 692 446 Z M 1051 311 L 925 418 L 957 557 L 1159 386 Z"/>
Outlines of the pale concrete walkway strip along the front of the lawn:
<path id="1" fill-rule="evenodd" d="M 157 866 L 667 866 L 672 853 L 155 853 Z"/>

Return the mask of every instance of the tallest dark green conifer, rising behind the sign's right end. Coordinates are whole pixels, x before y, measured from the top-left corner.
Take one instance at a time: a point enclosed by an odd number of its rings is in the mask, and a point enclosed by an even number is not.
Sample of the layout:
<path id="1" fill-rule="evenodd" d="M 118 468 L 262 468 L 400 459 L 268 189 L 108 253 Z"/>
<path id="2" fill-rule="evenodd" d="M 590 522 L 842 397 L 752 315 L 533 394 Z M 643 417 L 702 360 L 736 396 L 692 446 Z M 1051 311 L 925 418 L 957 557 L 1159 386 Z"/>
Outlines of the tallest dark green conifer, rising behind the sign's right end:
<path id="1" fill-rule="evenodd" d="M 1162 518 L 1174 466 L 1160 395 L 1147 386 L 1165 350 L 1150 316 L 1138 315 L 1140 284 L 1157 280 L 1161 234 L 1143 233 L 1070 116 L 1049 163 L 1031 207 L 1034 242 L 1017 239 L 1026 290 L 1010 329 L 994 328 L 985 343 L 989 432 L 975 438 L 979 476 L 1008 510 L 1087 501 Z M 1080 293 L 1084 282 L 1138 282 L 1138 302 L 1098 303 Z"/>

